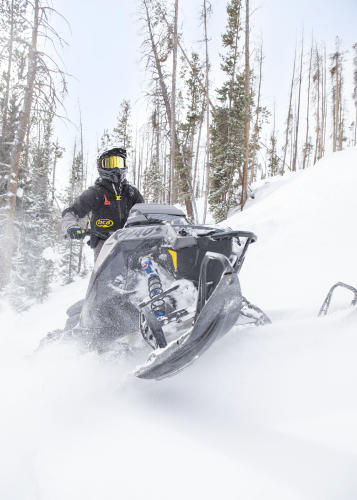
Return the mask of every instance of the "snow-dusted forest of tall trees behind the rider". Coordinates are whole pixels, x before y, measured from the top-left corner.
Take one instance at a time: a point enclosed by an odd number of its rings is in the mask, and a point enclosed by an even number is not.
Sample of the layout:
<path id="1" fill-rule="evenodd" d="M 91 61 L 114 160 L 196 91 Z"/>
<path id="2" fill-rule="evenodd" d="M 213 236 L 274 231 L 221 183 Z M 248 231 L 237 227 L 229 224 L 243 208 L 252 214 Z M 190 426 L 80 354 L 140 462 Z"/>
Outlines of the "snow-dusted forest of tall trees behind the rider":
<path id="1" fill-rule="evenodd" d="M 219 50 L 209 44 L 209 0 L 197 5 L 200 51 L 187 49 L 179 0 L 138 0 L 137 7 L 145 125 L 135 126 L 133 104 L 123 99 L 98 153 L 128 150 L 130 180 L 146 202 L 179 204 L 192 221 L 211 214 L 220 222 L 244 210 L 257 181 L 356 146 L 357 43 L 344 47 L 336 37 L 329 52 L 301 30 L 285 119 L 276 123 L 264 102 L 264 43 L 257 43 L 251 0 L 226 2 Z M 64 145 L 56 123 L 65 119 L 70 78 L 58 55 L 67 43 L 54 23 L 61 12 L 46 0 L 1 0 L 0 14 L 0 296 L 23 310 L 43 301 L 53 283 L 90 269 L 84 242 L 64 239 L 60 225 L 63 208 L 88 186 L 88 161 L 80 118 L 67 187 L 57 186 Z"/>

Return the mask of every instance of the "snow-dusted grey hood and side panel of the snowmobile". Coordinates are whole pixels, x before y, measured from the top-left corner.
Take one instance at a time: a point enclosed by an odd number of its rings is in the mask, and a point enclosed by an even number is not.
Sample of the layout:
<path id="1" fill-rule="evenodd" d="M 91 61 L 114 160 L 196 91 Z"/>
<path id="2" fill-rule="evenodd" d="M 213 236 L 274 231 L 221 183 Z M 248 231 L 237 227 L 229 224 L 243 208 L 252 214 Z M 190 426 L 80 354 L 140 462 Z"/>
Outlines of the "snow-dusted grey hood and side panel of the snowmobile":
<path id="1" fill-rule="evenodd" d="M 207 226 L 174 226 L 168 223 L 119 229 L 103 245 L 83 305 L 80 325 L 103 335 L 138 331 L 138 304 L 142 291 L 141 262 L 159 262 L 174 279 L 198 282 L 200 263 L 207 251 L 231 255 L 232 241 L 215 241 L 202 235 Z M 215 231 L 222 231 L 215 228 Z M 210 279 L 210 278 L 209 278 Z M 107 333 L 106 333 L 107 332 Z"/>

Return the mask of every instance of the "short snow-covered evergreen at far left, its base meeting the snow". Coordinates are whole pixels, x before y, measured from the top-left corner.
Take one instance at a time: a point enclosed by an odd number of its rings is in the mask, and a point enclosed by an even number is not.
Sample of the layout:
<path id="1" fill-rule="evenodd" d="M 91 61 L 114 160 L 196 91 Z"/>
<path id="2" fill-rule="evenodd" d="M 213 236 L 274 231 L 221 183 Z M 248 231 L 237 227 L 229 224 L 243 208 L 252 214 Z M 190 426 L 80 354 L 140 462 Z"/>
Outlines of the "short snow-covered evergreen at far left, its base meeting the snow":
<path id="1" fill-rule="evenodd" d="M 38 135 L 29 146 L 29 173 L 18 193 L 13 273 L 8 286 L 15 307 L 25 309 L 42 302 L 50 291 L 55 273 L 53 256 L 60 234 L 59 213 L 50 203 L 50 175 L 55 145 L 52 137 L 53 113 L 37 123 Z"/>

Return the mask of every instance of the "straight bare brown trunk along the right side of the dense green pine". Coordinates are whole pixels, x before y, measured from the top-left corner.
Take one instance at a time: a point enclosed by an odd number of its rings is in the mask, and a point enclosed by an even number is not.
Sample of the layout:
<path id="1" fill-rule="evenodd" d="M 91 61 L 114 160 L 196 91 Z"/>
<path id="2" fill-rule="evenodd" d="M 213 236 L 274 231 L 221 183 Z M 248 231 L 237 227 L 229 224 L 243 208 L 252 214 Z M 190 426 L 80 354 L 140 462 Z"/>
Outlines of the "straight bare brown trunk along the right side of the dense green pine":
<path id="1" fill-rule="evenodd" d="M 248 197 L 248 167 L 249 167 L 249 135 L 250 135 L 250 67 L 249 67 L 249 0 L 245 1 L 245 81 L 244 94 L 246 99 L 245 105 L 245 124 L 244 124 L 244 163 L 243 163 L 243 179 L 242 179 L 242 197 L 241 209 Z"/>

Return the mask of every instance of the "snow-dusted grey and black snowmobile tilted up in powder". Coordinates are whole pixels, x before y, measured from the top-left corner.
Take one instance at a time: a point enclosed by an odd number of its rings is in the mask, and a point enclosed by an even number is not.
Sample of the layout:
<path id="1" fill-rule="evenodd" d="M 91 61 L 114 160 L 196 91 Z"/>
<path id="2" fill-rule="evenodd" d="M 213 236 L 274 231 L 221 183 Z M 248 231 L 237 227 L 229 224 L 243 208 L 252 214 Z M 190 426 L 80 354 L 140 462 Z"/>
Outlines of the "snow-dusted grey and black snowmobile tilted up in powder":
<path id="1" fill-rule="evenodd" d="M 196 360 L 237 324 L 269 323 L 242 295 L 238 274 L 257 237 L 191 224 L 170 205 L 136 204 L 106 240 L 86 297 L 65 332 L 101 350 L 141 333 L 153 349 L 135 374 L 162 379 Z"/>

